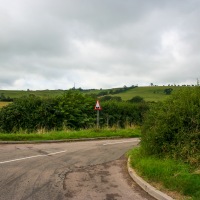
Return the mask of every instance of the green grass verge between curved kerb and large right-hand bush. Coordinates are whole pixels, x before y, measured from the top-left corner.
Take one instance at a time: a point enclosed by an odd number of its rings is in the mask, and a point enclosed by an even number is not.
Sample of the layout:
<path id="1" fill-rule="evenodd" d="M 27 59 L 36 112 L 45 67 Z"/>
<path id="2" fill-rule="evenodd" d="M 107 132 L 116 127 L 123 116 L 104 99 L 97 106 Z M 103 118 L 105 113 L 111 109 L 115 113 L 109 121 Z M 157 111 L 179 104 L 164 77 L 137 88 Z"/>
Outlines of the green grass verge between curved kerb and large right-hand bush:
<path id="1" fill-rule="evenodd" d="M 200 199 L 200 174 L 188 164 L 172 159 L 144 156 L 140 148 L 128 153 L 132 167 L 148 182 L 156 182 L 171 191 L 194 200 Z"/>

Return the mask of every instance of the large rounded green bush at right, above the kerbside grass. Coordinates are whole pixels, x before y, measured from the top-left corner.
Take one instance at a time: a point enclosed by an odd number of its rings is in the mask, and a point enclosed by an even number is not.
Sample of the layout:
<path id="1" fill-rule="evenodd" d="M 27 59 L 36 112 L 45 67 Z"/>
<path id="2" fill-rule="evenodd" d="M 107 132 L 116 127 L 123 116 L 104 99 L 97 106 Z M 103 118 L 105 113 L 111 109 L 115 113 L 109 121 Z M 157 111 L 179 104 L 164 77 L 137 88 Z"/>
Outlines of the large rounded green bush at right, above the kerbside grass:
<path id="1" fill-rule="evenodd" d="M 145 153 L 200 163 L 200 87 L 185 88 L 153 104 L 142 128 Z"/>

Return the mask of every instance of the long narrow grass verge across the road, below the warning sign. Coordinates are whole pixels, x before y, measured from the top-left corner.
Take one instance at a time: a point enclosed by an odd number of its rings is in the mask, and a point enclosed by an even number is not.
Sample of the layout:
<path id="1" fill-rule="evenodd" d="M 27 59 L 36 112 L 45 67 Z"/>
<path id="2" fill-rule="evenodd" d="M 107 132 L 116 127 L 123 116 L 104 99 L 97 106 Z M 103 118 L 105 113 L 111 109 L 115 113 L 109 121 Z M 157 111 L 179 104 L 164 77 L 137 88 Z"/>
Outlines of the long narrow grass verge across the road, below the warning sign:
<path id="1" fill-rule="evenodd" d="M 131 138 L 140 137 L 140 128 L 127 129 L 88 129 L 80 131 L 51 131 L 44 133 L 12 133 L 0 134 L 0 141 L 39 141 L 39 140 L 64 140 L 82 138 L 120 137 Z"/>

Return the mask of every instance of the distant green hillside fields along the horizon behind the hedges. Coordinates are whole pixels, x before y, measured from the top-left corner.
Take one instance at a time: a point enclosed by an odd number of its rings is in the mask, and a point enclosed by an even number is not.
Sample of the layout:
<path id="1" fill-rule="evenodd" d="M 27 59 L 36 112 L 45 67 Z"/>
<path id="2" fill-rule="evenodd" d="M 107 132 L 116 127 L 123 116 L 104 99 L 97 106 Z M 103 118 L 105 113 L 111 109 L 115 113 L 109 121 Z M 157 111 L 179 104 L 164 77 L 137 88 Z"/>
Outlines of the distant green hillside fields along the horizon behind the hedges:
<path id="1" fill-rule="evenodd" d="M 152 101 L 163 101 L 168 98 L 169 95 L 166 95 L 163 91 L 167 88 L 172 88 L 173 92 L 176 92 L 180 88 L 191 86 L 131 86 L 131 87 L 122 87 L 122 88 L 113 88 L 113 89 L 73 89 L 73 91 L 80 91 L 82 94 L 89 94 L 97 98 L 99 93 L 102 91 L 106 91 L 106 95 L 110 96 L 119 96 L 123 101 L 130 100 L 134 96 L 140 96 L 144 98 L 146 102 Z M 22 96 L 29 96 L 30 94 L 34 94 L 35 96 L 44 97 L 44 98 L 52 98 L 65 93 L 66 90 L 0 90 L 0 94 L 3 93 L 4 96 L 10 97 L 11 99 L 20 98 Z M 100 95 L 102 96 L 102 95 Z"/>

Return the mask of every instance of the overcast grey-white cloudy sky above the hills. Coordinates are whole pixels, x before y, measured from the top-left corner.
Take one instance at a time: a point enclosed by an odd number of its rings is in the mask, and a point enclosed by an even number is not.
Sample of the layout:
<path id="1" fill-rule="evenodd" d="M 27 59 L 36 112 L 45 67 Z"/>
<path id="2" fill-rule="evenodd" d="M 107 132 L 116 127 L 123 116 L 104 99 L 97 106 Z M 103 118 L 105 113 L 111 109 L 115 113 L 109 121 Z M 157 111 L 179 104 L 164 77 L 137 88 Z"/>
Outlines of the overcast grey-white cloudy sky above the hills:
<path id="1" fill-rule="evenodd" d="M 200 0 L 0 0 L 0 89 L 196 84 Z"/>

